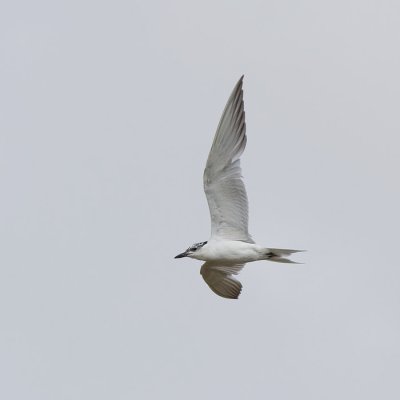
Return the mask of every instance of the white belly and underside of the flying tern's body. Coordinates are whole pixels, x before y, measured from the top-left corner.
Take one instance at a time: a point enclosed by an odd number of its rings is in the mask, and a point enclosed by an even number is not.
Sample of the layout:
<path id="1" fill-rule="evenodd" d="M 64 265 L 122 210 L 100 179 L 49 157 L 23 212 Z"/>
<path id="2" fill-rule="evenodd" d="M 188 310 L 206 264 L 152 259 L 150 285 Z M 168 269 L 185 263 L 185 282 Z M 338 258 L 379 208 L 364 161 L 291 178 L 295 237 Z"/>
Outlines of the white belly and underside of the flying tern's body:
<path id="1" fill-rule="evenodd" d="M 260 259 L 258 246 L 252 243 L 231 241 L 207 244 L 196 257 L 203 261 L 244 264 Z"/>

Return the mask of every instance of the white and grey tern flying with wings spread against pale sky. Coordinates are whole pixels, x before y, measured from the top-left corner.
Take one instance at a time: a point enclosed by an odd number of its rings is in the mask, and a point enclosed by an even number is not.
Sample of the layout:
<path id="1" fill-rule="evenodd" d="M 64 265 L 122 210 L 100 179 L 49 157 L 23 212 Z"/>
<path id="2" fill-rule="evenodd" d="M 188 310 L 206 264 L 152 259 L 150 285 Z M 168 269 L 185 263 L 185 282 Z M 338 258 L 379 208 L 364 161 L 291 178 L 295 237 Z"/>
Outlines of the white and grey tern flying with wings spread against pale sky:
<path id="1" fill-rule="evenodd" d="M 211 236 L 175 258 L 204 261 L 200 274 L 218 296 L 237 299 L 242 284 L 235 278 L 245 264 L 268 260 L 295 263 L 287 257 L 303 250 L 275 249 L 256 244 L 248 230 L 248 200 L 240 157 L 246 147 L 242 75 L 219 121 L 203 174 L 211 217 Z"/>

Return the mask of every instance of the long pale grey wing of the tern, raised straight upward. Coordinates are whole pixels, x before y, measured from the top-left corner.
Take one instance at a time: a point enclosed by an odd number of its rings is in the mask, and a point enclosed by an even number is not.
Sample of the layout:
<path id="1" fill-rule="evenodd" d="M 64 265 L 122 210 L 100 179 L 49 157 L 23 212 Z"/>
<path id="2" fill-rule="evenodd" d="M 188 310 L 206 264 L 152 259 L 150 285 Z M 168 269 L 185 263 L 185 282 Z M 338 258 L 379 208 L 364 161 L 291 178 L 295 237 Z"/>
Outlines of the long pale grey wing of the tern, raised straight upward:
<path id="1" fill-rule="evenodd" d="M 211 237 L 254 243 L 248 232 L 248 202 L 240 156 L 246 147 L 243 76 L 222 113 L 204 170 Z"/>

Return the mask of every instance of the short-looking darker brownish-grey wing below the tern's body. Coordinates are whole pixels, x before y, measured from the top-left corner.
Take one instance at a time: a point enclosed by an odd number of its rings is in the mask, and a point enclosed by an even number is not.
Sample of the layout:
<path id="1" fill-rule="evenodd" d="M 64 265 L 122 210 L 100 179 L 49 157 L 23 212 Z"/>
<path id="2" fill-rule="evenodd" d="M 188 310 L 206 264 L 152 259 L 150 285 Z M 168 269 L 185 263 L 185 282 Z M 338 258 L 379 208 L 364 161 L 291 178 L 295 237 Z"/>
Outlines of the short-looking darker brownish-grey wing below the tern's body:
<path id="1" fill-rule="evenodd" d="M 242 291 L 242 284 L 232 275 L 237 275 L 243 267 L 244 264 L 224 266 L 206 262 L 202 265 L 200 274 L 218 296 L 237 299 Z"/>

